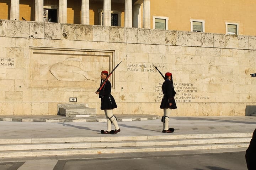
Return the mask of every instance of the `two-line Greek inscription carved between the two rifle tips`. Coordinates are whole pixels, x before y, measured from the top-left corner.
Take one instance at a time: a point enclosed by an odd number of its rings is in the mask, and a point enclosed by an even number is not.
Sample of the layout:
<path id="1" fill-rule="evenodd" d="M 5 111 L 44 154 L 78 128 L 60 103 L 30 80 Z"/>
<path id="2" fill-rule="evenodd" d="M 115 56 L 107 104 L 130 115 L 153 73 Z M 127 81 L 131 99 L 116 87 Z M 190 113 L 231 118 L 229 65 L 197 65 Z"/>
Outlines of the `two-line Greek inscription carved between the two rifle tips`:
<path id="1" fill-rule="evenodd" d="M 157 68 L 165 68 L 164 64 L 156 64 Z M 127 71 L 128 72 L 157 72 L 155 67 L 152 64 L 146 63 L 128 63 L 127 64 Z"/>

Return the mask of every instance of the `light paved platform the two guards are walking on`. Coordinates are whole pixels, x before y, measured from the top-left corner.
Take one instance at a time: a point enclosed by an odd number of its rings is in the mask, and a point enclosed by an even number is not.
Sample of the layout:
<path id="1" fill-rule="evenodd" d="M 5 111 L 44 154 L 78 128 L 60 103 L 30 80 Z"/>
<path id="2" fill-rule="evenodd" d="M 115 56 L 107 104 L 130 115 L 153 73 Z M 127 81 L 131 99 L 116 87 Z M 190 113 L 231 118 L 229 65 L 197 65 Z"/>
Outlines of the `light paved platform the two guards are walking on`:
<path id="1" fill-rule="evenodd" d="M 132 115 L 131 115 L 132 116 Z M 122 119 L 120 116 L 119 119 Z M 219 134 L 252 133 L 256 117 L 170 117 L 169 127 L 173 134 Z M 118 121 L 121 132 L 116 136 L 170 135 L 162 133 L 160 119 L 146 121 Z M 0 139 L 50 138 L 50 137 L 96 137 L 106 130 L 105 122 L 19 122 L 0 121 Z M 114 126 L 112 125 L 112 129 Z M 107 134 L 110 135 L 110 134 Z"/>

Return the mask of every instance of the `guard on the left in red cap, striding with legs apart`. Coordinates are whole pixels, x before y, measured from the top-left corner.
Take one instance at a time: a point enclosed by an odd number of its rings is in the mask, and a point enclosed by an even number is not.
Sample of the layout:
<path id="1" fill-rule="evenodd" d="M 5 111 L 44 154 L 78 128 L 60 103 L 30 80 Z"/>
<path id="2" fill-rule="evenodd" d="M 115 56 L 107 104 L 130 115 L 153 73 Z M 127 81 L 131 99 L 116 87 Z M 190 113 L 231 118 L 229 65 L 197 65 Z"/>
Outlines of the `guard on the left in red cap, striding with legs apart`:
<path id="1" fill-rule="evenodd" d="M 101 72 L 101 83 L 108 77 L 107 71 Z M 117 118 L 113 115 L 112 111 L 114 108 L 117 108 L 117 104 L 114 100 L 114 97 L 111 95 L 111 83 L 106 80 L 105 85 L 102 87 L 100 91 L 96 91 L 95 93 L 99 95 L 101 98 L 101 110 L 104 110 L 105 116 L 107 118 L 107 130 L 101 130 L 101 134 L 117 134 L 120 132 L 120 128 L 117 124 Z M 115 130 L 111 130 L 111 124 L 114 124 Z"/>

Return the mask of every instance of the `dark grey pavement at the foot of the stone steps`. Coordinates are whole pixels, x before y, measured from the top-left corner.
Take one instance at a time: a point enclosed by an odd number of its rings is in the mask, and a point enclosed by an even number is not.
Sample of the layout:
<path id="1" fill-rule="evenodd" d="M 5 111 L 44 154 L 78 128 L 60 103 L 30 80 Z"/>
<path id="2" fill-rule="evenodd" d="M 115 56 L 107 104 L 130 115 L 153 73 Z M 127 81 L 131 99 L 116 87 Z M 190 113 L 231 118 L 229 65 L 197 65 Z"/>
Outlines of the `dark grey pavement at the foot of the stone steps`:
<path id="1" fill-rule="evenodd" d="M 1 159 L 0 159 L 1 160 Z M 246 170 L 244 148 L 8 158 L 1 170 Z"/>

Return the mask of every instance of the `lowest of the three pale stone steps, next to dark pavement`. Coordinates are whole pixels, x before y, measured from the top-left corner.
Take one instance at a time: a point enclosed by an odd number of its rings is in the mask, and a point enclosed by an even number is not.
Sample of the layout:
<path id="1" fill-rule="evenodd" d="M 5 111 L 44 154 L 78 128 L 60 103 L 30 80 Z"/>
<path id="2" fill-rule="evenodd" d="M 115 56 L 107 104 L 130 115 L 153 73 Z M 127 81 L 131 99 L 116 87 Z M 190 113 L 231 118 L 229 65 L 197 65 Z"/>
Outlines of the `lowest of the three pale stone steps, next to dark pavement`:
<path id="1" fill-rule="evenodd" d="M 188 151 L 202 149 L 227 149 L 246 148 L 249 143 L 229 143 L 213 145 L 187 145 L 187 146 L 154 146 L 154 147 L 123 147 L 123 148 L 97 148 L 97 149 L 61 149 L 61 150 L 38 150 L 38 151 L 1 151 L 0 158 L 10 157 L 38 157 L 54 155 L 80 155 L 80 154 L 102 154 L 102 153 L 132 153 L 132 152 L 163 152 L 163 151 Z"/>

